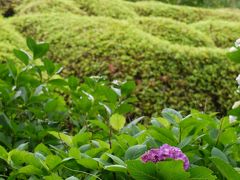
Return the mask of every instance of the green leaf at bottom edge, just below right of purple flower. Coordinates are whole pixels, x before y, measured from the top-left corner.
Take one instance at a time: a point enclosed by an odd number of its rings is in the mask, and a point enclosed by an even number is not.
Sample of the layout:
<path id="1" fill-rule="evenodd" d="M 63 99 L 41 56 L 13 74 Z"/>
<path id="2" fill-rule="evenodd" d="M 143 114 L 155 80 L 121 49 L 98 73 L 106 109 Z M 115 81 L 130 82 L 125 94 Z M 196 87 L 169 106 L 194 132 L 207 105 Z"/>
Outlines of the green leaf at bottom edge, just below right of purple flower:
<path id="1" fill-rule="evenodd" d="M 194 167 L 189 170 L 191 174 L 191 179 L 206 179 L 206 180 L 215 180 L 216 176 L 212 175 L 213 171 L 206 167 Z"/>

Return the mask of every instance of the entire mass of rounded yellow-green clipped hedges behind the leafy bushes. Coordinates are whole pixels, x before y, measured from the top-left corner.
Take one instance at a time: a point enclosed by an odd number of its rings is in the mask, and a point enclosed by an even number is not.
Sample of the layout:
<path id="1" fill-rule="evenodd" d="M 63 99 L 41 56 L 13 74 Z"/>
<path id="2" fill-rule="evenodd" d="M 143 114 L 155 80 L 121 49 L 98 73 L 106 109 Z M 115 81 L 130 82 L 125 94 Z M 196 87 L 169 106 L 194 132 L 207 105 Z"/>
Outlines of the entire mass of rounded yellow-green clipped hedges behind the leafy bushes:
<path id="1" fill-rule="evenodd" d="M 236 97 L 231 80 L 238 67 L 226 60 L 225 48 L 238 38 L 238 10 L 13 0 L 0 8 L 3 16 L 7 7 L 13 17 L 0 18 L 0 57 L 14 58 L 10 50 L 27 36 L 51 42 L 47 57 L 63 64 L 65 74 L 135 80 L 138 114 L 160 114 L 164 107 L 224 114 Z"/>

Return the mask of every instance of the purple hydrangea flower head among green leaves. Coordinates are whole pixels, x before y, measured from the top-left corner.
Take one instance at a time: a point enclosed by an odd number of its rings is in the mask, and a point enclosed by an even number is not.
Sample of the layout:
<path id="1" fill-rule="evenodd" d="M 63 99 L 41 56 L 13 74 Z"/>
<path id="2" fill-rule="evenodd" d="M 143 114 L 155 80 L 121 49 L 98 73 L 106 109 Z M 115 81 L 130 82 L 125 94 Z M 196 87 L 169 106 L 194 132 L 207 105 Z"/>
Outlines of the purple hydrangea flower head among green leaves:
<path id="1" fill-rule="evenodd" d="M 143 162 L 158 162 L 168 158 L 183 161 L 184 169 L 187 170 L 190 166 L 188 157 L 177 147 L 168 144 L 162 145 L 158 149 L 151 149 L 141 156 Z"/>

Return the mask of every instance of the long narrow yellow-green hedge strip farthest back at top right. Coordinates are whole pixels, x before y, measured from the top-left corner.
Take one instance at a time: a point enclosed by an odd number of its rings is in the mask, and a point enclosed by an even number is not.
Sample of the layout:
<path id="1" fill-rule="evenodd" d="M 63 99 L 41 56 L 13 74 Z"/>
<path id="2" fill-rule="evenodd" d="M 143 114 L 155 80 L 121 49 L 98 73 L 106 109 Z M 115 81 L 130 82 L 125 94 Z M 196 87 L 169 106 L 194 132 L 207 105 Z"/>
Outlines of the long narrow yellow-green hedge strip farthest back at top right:
<path id="1" fill-rule="evenodd" d="M 161 2 L 127 2 L 129 7 L 135 9 L 140 16 L 168 17 L 186 23 L 198 22 L 208 19 L 239 21 L 240 11 L 232 9 L 204 9 L 188 6 L 170 5 Z"/>

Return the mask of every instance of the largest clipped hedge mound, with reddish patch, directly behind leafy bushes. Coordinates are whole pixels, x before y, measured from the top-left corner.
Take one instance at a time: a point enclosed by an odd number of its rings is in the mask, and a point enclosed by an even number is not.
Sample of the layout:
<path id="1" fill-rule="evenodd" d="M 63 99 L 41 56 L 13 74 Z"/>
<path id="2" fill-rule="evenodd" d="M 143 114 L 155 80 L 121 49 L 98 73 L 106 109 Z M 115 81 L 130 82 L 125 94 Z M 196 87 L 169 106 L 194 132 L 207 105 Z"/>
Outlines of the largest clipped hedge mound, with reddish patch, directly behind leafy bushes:
<path id="1" fill-rule="evenodd" d="M 239 68 L 223 50 L 171 45 L 103 17 L 31 15 L 11 22 L 25 36 L 50 42 L 49 57 L 64 63 L 68 72 L 134 78 L 141 114 L 160 113 L 163 107 L 224 113 L 236 98 L 233 79 Z"/>

